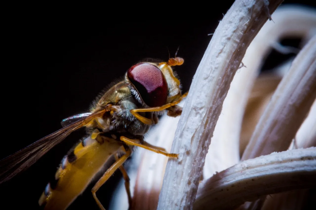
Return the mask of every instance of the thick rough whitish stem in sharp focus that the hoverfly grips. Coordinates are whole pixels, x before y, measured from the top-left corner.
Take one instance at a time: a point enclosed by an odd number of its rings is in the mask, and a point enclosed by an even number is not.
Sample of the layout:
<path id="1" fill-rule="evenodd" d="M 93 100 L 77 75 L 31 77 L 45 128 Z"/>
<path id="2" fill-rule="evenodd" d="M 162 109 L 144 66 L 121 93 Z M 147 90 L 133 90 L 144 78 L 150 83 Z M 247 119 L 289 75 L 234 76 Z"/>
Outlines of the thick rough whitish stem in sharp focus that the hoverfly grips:
<path id="1" fill-rule="evenodd" d="M 205 156 L 230 83 L 246 49 L 281 0 L 237 0 L 217 27 L 193 78 L 159 196 L 158 208 L 192 209 Z"/>

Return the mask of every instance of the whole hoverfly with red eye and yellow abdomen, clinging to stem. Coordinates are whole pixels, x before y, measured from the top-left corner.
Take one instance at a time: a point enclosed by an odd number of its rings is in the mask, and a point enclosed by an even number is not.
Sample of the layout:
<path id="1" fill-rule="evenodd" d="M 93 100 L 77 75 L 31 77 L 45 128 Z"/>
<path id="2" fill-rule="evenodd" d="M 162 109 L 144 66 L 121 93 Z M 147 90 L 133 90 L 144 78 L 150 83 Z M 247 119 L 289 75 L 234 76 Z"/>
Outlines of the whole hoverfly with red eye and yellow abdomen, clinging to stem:
<path id="1" fill-rule="evenodd" d="M 63 141 L 71 132 L 85 127 L 88 136 L 64 156 L 55 174 L 54 182 L 47 184 L 39 204 L 44 209 L 66 209 L 80 195 L 114 156 L 112 164 L 92 188 L 92 195 L 104 209 L 96 196 L 97 190 L 119 169 L 125 179 L 125 188 L 131 207 L 129 177 L 123 167 L 134 147 L 143 147 L 168 157 L 167 153 L 144 141 L 144 134 L 158 123 L 158 116 L 181 115 L 177 104 L 186 97 L 181 94 L 180 81 L 172 66 L 182 65 L 180 57 L 168 62 L 139 62 L 127 70 L 125 79 L 113 85 L 94 103 L 89 113 L 64 119 L 62 129 L 47 135 L 28 147 L 0 161 L 0 184 L 26 170 L 52 147 Z"/>

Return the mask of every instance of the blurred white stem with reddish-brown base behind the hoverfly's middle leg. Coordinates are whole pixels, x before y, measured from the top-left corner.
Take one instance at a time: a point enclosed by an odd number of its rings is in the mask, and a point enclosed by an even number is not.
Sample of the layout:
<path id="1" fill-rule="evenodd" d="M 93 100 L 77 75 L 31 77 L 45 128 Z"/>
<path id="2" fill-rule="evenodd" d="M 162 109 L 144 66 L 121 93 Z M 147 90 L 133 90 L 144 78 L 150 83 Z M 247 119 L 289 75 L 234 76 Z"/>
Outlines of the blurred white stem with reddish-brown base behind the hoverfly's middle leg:
<path id="1" fill-rule="evenodd" d="M 174 133 L 179 117 L 161 117 L 160 122 L 149 131 L 146 139 L 155 139 L 155 146 L 163 147 L 167 152 L 171 149 Z M 157 209 L 162 178 L 168 158 L 161 154 L 146 150 L 139 165 L 133 196 L 134 210 Z M 124 189 L 125 190 L 125 189 Z"/>

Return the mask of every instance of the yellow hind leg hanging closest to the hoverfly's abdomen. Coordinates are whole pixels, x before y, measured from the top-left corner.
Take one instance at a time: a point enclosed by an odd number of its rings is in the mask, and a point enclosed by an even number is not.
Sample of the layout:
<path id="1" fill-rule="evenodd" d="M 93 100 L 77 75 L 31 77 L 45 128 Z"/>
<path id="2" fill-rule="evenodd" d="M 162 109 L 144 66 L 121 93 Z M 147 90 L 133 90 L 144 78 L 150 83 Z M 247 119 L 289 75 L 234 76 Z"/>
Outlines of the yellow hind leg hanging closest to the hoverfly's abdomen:
<path id="1" fill-rule="evenodd" d="M 91 190 L 92 195 L 93 195 L 94 200 L 98 204 L 100 209 L 105 210 L 105 208 L 102 206 L 99 199 L 95 195 L 96 191 L 98 191 L 98 189 L 106 182 L 106 180 L 108 180 L 109 177 L 112 176 L 114 171 L 116 171 L 116 169 L 118 169 L 130 155 L 131 155 L 131 150 L 127 150 L 126 154 L 123 155 L 122 157 L 120 157 L 113 165 L 111 165 L 111 167 L 108 170 L 106 170 L 106 172 L 103 174 L 103 176 L 99 179 L 99 181 L 92 188 L 92 190 Z"/>

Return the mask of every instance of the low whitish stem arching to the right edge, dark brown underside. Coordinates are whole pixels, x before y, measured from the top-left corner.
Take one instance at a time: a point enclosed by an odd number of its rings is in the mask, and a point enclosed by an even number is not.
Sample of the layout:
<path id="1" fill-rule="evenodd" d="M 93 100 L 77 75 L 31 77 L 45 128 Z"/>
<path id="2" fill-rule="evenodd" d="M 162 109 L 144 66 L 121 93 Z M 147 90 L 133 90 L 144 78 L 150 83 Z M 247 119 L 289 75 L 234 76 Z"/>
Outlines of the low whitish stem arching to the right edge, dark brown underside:
<path id="1" fill-rule="evenodd" d="M 194 210 L 232 209 L 262 195 L 316 187 L 315 176 L 315 147 L 249 159 L 207 180 Z"/>

